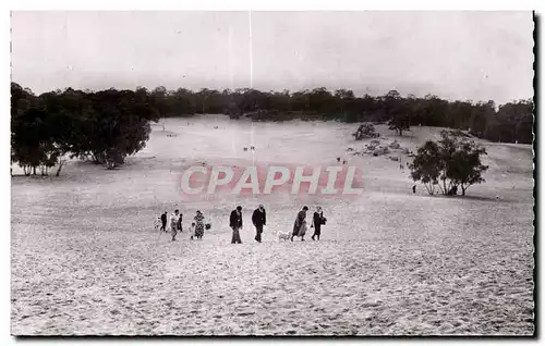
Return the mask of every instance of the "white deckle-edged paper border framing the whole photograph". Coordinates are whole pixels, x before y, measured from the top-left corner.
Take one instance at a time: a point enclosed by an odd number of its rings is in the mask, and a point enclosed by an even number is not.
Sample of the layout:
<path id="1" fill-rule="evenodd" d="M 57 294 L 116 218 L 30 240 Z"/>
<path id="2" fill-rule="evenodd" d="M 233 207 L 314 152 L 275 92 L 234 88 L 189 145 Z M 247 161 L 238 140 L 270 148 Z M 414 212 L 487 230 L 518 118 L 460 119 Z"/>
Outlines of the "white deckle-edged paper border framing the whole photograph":
<path id="1" fill-rule="evenodd" d="M 10 52 L 9 52 L 9 42 L 10 42 L 10 10 L 217 10 L 217 11 L 270 11 L 270 10 L 291 10 L 291 11 L 304 11 L 304 10 L 487 10 L 487 11 L 497 11 L 497 10 L 537 10 L 538 13 L 545 13 L 543 0 L 518 0 L 518 1 L 477 1 L 477 0 L 458 0 L 458 1 L 393 1 L 393 0 L 383 0 L 383 1 L 349 1 L 349 0 L 313 0 L 313 1 L 300 1 L 295 2 L 293 0 L 268 0 L 268 1 L 251 1 L 251 0 L 185 0 L 185 1 L 175 1 L 175 0 L 154 0 L 154 1 L 144 1 L 144 0 L 129 0 L 129 1 L 114 1 L 114 0 L 93 0 L 93 1 L 39 1 L 39 0 L 9 0 L 2 1 L 1 7 L 2 10 L 0 12 L 0 18 L 2 21 L 2 30 L 0 32 L 0 47 L 2 49 L 2 78 L 3 83 L 0 83 L 1 88 L 1 100 L 4 112 L 2 116 L 0 116 L 0 121 L 2 122 L 0 128 L 4 132 L 1 140 L 1 157 L 0 162 L 8 162 L 9 160 L 9 128 L 10 128 L 10 90 L 9 90 L 9 79 L 10 79 Z M 543 46 L 542 38 L 540 38 L 540 44 Z M 540 92 L 540 99 L 543 96 L 543 92 Z M 545 121 L 541 120 L 540 122 L 540 133 L 543 132 L 543 127 L 545 126 Z M 540 161 L 543 162 L 543 156 L 545 155 L 542 146 L 538 148 L 540 152 Z M 543 170 L 543 166 L 542 166 Z M 2 345 L 11 345 L 15 344 L 15 339 L 10 336 L 10 311 L 11 311 L 11 302 L 10 302 L 10 176 L 8 175 L 8 168 L 0 170 L 0 193 L 2 196 L 1 199 L 1 221 L 4 227 L 1 227 L 1 239 L 0 244 L 2 245 L 2 251 L 0 251 L 2 258 L 0 260 L 1 268 L 1 313 L 0 313 L 0 326 L 2 328 L 0 337 Z M 540 189 L 542 191 L 542 189 Z M 29 207 L 32 208 L 32 206 Z M 543 207 L 540 208 L 540 214 L 542 213 Z M 543 222 L 543 221 L 542 221 Z M 543 238 L 545 235 L 541 236 L 540 249 L 543 252 Z M 542 255 L 543 257 L 543 255 Z M 540 263 L 541 264 L 541 263 Z M 538 265 L 540 265 L 538 264 Z M 541 265 L 540 265 L 541 267 Z M 543 286 L 543 280 L 542 285 Z M 540 293 L 543 291 L 540 289 Z M 545 297 L 540 295 L 540 300 L 543 300 Z M 541 311 L 541 323 L 538 330 L 541 333 L 544 332 L 543 329 L 543 319 L 544 311 Z M 367 345 L 376 345 L 378 343 L 395 343 L 396 341 L 371 341 L 371 339 L 361 339 L 361 341 L 351 341 L 352 343 L 364 342 Z M 38 341 L 27 341 L 28 344 L 37 343 Z M 39 341 L 46 343 L 57 343 L 59 341 Z M 116 345 L 120 341 L 107 341 L 107 342 L 85 342 L 85 345 Z M 135 341 L 125 339 L 124 342 L 134 343 Z M 141 345 L 149 345 L 149 344 L 170 344 L 169 339 L 155 339 L 155 341 L 138 341 L 137 343 Z M 196 339 L 187 339 L 189 343 L 194 343 Z M 229 343 L 240 343 L 240 341 L 228 341 Z M 278 342 L 275 341 L 261 341 L 259 343 L 268 343 L 268 342 Z M 298 341 L 281 341 L 286 344 L 294 344 L 299 343 Z M 337 342 L 337 339 L 332 341 L 313 341 L 316 344 L 323 344 L 328 342 Z M 429 343 L 436 344 L 441 342 L 440 339 L 402 339 L 399 342 L 411 342 L 411 343 Z M 451 341 L 455 344 L 464 344 L 468 341 Z M 491 343 L 494 341 L 488 341 Z M 510 339 L 505 341 L 505 344 L 518 344 L 521 339 Z M 75 344 L 75 341 L 62 342 L 63 344 Z M 204 342 L 206 344 L 213 343 L 213 341 Z"/>

